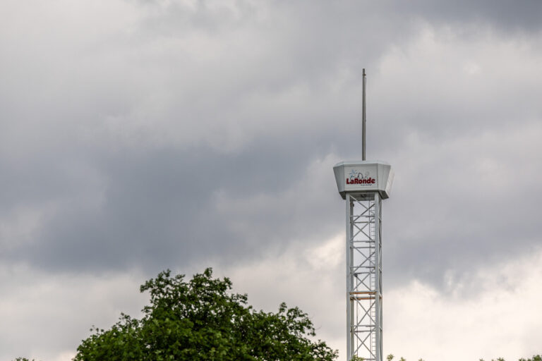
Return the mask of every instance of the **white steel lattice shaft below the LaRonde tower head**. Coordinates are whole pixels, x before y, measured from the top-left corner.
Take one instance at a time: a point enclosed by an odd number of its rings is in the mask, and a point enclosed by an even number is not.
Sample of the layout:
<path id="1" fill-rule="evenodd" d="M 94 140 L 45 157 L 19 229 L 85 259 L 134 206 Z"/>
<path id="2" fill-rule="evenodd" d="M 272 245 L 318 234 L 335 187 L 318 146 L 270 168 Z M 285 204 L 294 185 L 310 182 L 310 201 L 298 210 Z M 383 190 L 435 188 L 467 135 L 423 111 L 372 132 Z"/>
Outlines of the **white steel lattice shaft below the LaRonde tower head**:
<path id="1" fill-rule="evenodd" d="M 347 194 L 347 360 L 383 360 L 381 202 Z"/>

